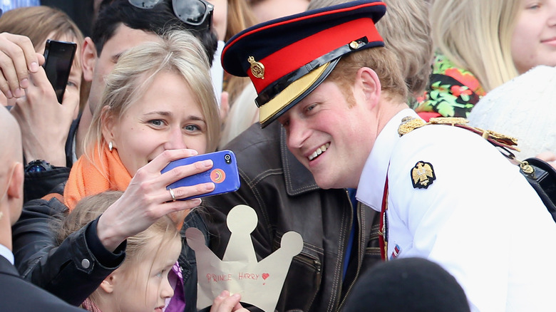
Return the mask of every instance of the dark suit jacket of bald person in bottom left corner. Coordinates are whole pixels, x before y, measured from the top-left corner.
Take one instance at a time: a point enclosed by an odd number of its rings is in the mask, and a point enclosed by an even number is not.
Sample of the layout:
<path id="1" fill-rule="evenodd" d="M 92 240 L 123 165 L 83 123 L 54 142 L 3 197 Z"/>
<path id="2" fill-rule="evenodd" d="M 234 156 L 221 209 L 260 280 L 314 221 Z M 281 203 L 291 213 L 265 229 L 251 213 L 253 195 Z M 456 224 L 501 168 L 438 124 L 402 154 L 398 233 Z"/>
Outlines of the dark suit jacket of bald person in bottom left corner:
<path id="1" fill-rule="evenodd" d="M 19 277 L 16 268 L 0 256 L 1 311 L 83 312 Z"/>

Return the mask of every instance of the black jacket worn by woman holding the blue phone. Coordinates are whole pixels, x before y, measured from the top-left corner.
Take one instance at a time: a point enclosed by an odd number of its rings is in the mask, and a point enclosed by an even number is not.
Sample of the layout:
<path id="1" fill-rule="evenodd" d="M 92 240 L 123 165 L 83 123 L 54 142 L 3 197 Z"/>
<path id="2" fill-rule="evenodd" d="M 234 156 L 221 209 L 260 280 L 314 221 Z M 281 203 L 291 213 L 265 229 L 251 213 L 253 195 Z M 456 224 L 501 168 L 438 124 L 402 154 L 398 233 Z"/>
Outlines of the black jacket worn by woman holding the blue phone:
<path id="1" fill-rule="evenodd" d="M 64 184 L 54 189 L 63 194 Z M 64 217 L 68 208 L 53 198 L 35 199 L 24 205 L 19 220 L 12 227 L 14 256 L 21 276 L 46 289 L 64 301 L 80 305 L 125 258 L 125 242 L 111 253 L 104 249 L 96 234 L 96 222 L 89 223 L 68 236 L 60 246 L 56 243 L 53 219 Z M 182 233 L 196 227 L 205 234 L 207 229 L 200 215 L 194 211 L 185 218 Z M 195 252 L 185 243 L 178 259 L 184 279 L 185 311 L 196 311 L 197 265 Z"/>

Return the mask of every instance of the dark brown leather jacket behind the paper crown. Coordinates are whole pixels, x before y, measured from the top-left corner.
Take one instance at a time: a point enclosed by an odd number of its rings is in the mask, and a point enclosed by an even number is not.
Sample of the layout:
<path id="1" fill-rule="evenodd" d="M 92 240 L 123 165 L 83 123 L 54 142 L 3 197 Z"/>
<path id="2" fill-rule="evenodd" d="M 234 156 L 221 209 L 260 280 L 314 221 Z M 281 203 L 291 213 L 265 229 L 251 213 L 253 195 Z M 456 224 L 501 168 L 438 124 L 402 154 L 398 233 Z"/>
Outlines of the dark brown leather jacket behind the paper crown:
<path id="1" fill-rule="evenodd" d="M 380 261 L 378 214 L 357 205 L 351 260 L 342 276 L 354 218 L 346 190 L 317 187 L 311 173 L 287 150 L 279 123 L 264 129 L 252 125 L 226 149 L 235 152 L 242 185 L 237 192 L 203 199 L 210 248 L 222 258 L 230 238 L 227 212 L 237 204 L 247 204 L 259 217 L 252 232 L 259 261 L 280 246 L 286 232 L 298 232 L 304 241 L 301 254 L 289 268 L 276 310 L 339 311 L 358 276 Z"/>

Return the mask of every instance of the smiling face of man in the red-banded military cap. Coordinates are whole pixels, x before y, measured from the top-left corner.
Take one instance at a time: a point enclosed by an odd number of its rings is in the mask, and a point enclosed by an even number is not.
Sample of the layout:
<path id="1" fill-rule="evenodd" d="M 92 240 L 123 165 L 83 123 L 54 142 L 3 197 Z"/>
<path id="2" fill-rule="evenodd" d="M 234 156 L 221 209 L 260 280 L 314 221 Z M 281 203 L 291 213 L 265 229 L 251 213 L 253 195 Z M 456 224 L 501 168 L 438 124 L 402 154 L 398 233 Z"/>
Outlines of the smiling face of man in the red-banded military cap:
<path id="1" fill-rule="evenodd" d="M 348 103 L 336 83 L 324 82 L 278 119 L 287 145 L 323 189 L 357 187 L 378 131 L 361 89 Z"/>

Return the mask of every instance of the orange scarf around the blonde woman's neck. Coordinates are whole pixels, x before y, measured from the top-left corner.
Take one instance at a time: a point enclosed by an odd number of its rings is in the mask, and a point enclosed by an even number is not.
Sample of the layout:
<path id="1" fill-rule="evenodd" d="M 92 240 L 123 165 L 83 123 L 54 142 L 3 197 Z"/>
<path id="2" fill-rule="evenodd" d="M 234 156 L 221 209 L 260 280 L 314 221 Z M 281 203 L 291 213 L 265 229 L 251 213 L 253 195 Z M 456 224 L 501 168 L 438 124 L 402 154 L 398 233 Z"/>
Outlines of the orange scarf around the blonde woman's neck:
<path id="1" fill-rule="evenodd" d="M 99 155 L 98 147 L 95 147 L 92 157 L 93 162 L 82 155 L 71 167 L 68 182 L 63 189 L 63 202 L 70 211 L 83 197 L 109 189 L 123 192 L 131 181 L 131 175 L 125 169 L 117 150 L 110 152 L 103 145 Z"/>

